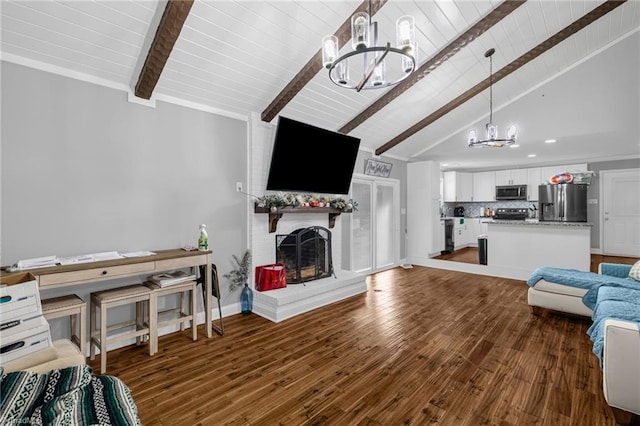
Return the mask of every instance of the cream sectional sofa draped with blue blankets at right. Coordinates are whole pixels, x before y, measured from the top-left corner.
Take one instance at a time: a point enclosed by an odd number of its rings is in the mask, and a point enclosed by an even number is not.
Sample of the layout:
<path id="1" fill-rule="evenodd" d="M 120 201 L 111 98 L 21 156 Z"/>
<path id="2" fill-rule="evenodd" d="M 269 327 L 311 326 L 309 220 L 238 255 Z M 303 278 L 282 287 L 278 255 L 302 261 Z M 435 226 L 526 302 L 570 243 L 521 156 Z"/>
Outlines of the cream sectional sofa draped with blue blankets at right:
<path id="1" fill-rule="evenodd" d="M 640 415 L 640 262 L 602 263 L 597 274 L 538 268 L 527 284 L 534 314 L 549 309 L 593 320 L 587 333 L 602 368 L 605 400 L 618 423 Z"/>

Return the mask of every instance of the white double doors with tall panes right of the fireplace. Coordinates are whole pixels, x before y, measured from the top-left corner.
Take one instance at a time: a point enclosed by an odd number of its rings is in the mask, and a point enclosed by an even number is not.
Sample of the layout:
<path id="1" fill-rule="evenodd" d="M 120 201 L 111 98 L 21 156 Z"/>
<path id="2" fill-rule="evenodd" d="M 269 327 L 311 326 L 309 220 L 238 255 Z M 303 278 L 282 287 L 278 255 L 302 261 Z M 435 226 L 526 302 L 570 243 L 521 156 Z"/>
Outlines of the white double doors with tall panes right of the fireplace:
<path id="1" fill-rule="evenodd" d="M 351 198 L 351 265 L 355 272 L 393 267 L 400 253 L 400 191 L 393 179 L 355 178 Z"/>

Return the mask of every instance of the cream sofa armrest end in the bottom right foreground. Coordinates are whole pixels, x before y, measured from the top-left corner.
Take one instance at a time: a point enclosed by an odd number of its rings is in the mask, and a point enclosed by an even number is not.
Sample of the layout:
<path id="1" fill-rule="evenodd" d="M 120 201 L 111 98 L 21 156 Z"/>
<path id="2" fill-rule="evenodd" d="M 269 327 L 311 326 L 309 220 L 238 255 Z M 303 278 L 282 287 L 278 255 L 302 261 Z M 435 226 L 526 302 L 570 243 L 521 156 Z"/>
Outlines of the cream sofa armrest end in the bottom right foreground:
<path id="1" fill-rule="evenodd" d="M 607 319 L 604 324 L 602 387 L 611 407 L 640 414 L 640 332 L 638 324 Z"/>

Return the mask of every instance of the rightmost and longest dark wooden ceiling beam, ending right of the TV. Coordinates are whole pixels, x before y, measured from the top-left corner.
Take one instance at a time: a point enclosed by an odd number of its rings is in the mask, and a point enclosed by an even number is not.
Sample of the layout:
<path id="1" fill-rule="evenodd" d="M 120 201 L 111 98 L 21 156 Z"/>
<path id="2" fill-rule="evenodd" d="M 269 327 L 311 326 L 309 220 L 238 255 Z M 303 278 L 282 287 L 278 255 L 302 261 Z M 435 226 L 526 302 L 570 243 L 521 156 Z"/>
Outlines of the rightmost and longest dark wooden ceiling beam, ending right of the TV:
<path id="1" fill-rule="evenodd" d="M 524 66 L 527 63 L 531 62 L 532 60 L 534 60 L 538 56 L 542 55 L 547 50 L 553 48 L 554 46 L 556 46 L 560 42 L 566 40 L 571 35 L 577 33 L 581 29 L 583 29 L 586 26 L 588 26 L 588 25 L 592 24 L 593 22 L 597 21 L 598 19 L 600 19 L 601 17 L 603 17 L 607 13 L 609 13 L 612 10 L 616 9 L 618 6 L 623 5 L 626 1 L 627 0 L 608 0 L 605 3 L 602 3 L 600 6 L 596 7 L 591 12 L 587 13 L 586 15 L 581 17 L 580 19 L 574 21 L 569 26 L 567 26 L 567 27 L 563 28 L 562 30 L 558 31 L 557 33 L 555 33 L 554 35 L 552 35 L 551 37 L 549 37 L 548 39 L 546 39 L 542 43 L 538 44 L 533 49 L 529 50 L 527 53 L 521 55 L 519 58 L 517 58 L 516 60 L 514 60 L 510 64 L 506 65 L 504 68 L 502 68 L 501 70 L 499 70 L 496 73 L 494 73 L 493 74 L 493 83 L 495 84 L 498 81 L 502 80 L 503 78 L 505 78 L 509 74 L 513 73 L 517 69 L 521 68 L 522 66 Z M 476 84 L 471 89 L 467 90 L 466 92 L 464 92 L 463 94 L 461 94 L 457 98 L 453 99 L 451 102 L 447 103 L 443 107 L 441 107 L 438 110 L 434 111 L 433 113 L 429 114 L 428 116 L 426 116 L 422 120 L 418 121 L 413 126 L 409 127 L 404 132 L 400 133 L 395 138 L 391 139 L 389 142 L 385 143 L 384 145 L 382 145 L 381 147 L 376 149 L 375 154 L 376 155 L 382 155 L 383 153 L 387 152 L 388 150 L 390 150 L 394 146 L 397 146 L 398 144 L 400 144 L 405 139 L 407 139 L 410 136 L 416 134 L 420 130 L 424 129 L 425 127 L 427 127 L 428 125 L 433 123 L 434 121 L 436 121 L 439 118 L 443 117 L 445 114 L 451 112 L 452 110 L 454 110 L 455 108 L 459 107 L 460 105 L 462 105 L 463 103 L 465 103 L 469 99 L 473 98 L 474 96 L 478 95 L 479 93 L 481 93 L 484 90 L 486 90 L 487 88 L 489 88 L 490 83 L 491 83 L 491 79 L 489 77 L 487 77 L 485 80 L 483 80 L 480 83 Z"/>

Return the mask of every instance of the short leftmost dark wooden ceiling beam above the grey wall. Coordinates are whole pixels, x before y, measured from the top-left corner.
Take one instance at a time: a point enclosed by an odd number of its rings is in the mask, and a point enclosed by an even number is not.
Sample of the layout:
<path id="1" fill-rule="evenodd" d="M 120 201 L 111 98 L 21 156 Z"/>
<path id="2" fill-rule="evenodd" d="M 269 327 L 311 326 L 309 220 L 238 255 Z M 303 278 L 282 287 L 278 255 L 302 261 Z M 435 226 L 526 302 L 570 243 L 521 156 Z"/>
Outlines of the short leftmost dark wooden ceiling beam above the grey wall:
<path id="1" fill-rule="evenodd" d="M 143 99 L 151 98 L 173 46 L 180 36 L 184 21 L 189 15 L 191 6 L 193 6 L 193 1 L 169 0 L 167 2 L 136 83 L 135 95 L 137 97 Z"/>

